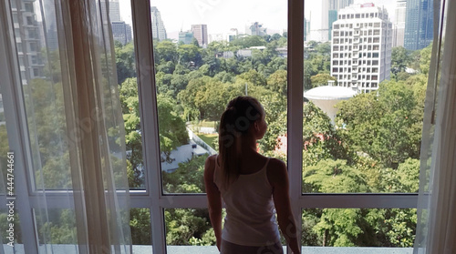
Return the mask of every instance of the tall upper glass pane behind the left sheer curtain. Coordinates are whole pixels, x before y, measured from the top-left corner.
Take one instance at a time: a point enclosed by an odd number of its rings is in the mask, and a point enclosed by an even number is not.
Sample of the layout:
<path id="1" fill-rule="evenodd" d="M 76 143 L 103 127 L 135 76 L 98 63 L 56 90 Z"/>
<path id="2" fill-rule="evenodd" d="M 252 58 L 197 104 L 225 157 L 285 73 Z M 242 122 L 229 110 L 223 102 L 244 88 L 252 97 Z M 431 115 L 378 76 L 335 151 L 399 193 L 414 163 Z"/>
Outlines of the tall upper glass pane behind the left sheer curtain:
<path id="1" fill-rule="evenodd" d="M 30 169 L 32 188 L 72 188 L 67 143 L 74 140 L 70 137 L 71 135 L 67 135 L 65 106 L 68 102 L 64 99 L 64 87 L 66 86 L 62 85 L 64 83 L 62 76 L 65 76 L 66 72 L 61 70 L 63 63 L 60 62 L 66 56 L 60 55 L 60 52 L 63 51 L 59 51 L 59 36 L 57 35 L 59 25 L 57 20 L 60 20 L 60 14 L 55 9 L 54 0 L 10 0 L 10 3 L 17 6 L 11 11 L 14 16 L 16 54 L 21 70 L 21 84 L 18 86 L 22 86 L 24 91 L 26 121 L 32 153 L 33 168 Z M 129 181 L 130 188 L 144 188 L 131 16 L 126 15 L 124 17 L 126 21 L 121 21 L 118 17 L 119 3 L 130 13 L 131 8 L 128 0 L 109 1 L 109 8 L 113 15 L 111 27 L 115 40 L 119 90 L 127 130 Z M 106 8 L 105 4 L 101 1 L 100 6 Z M 116 10 L 118 15 L 115 15 Z M 120 30 L 123 31 L 123 34 Z M 112 78 L 107 76 L 109 70 L 103 69 L 101 72 L 106 80 Z M 107 81 L 107 83 L 109 82 Z M 111 95 L 106 93 L 103 96 L 110 97 Z M 108 99 L 104 101 L 105 107 L 112 107 Z M 109 117 L 106 117 L 105 121 L 107 128 L 115 125 L 113 119 Z M 84 120 L 80 120 L 75 128 L 85 130 L 85 127 Z M 109 129 L 109 131 L 111 131 L 108 133 L 109 154 L 114 170 L 118 170 L 119 144 L 115 137 L 116 130 Z"/>

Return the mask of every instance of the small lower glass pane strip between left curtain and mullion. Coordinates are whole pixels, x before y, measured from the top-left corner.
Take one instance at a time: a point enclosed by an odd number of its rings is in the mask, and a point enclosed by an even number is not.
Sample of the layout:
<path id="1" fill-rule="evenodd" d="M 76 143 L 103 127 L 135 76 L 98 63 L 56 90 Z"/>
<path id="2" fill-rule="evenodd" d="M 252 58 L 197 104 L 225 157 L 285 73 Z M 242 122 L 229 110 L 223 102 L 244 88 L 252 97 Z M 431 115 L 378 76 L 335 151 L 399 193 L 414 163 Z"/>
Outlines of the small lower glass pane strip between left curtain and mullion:
<path id="1" fill-rule="evenodd" d="M 150 209 L 130 209 L 130 229 L 133 253 L 152 253 Z"/>

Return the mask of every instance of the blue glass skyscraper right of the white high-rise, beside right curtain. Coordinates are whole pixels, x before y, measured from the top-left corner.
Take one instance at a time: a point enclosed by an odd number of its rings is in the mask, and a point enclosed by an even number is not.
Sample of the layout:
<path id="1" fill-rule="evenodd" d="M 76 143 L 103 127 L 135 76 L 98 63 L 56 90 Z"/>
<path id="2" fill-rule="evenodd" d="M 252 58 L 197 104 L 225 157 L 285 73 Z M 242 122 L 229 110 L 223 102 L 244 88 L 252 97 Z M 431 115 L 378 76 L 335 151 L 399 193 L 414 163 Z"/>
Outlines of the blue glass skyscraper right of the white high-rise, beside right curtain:
<path id="1" fill-rule="evenodd" d="M 404 47 L 417 50 L 429 46 L 433 27 L 433 1 L 407 0 Z"/>

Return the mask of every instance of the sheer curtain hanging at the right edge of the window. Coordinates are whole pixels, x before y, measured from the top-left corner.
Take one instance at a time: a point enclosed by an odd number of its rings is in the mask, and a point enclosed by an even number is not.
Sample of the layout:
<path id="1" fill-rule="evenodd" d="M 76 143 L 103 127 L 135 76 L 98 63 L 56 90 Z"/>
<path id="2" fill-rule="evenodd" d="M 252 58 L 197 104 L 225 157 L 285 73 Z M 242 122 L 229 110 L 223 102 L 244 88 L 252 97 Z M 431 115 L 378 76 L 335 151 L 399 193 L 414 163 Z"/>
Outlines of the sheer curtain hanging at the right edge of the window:
<path id="1" fill-rule="evenodd" d="M 441 42 L 434 39 L 430 73 L 430 85 L 436 86 L 428 89 L 423 127 L 414 253 L 456 251 L 456 2 L 442 1 L 441 6 L 443 22 L 436 30 Z"/>

